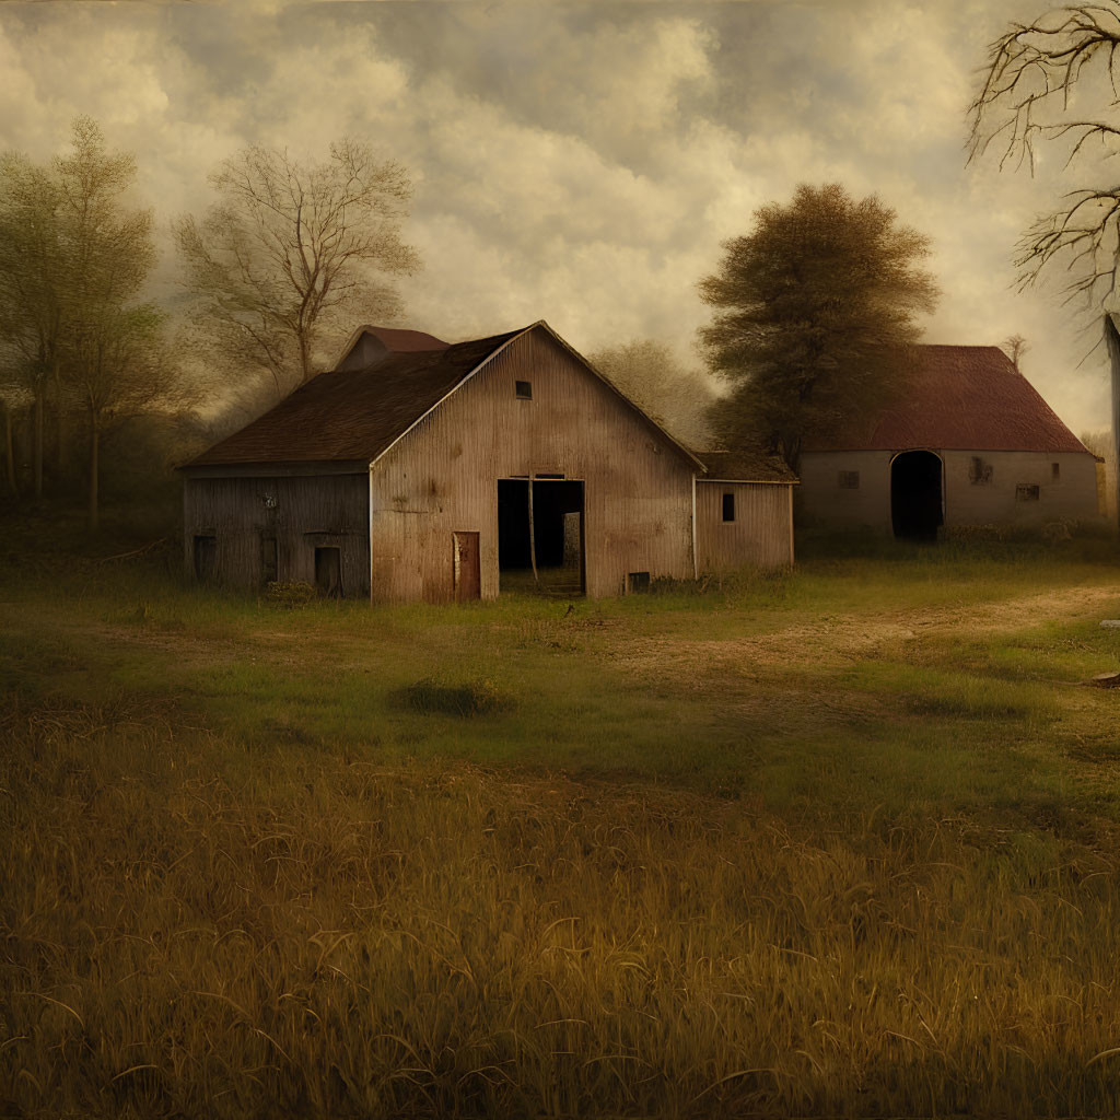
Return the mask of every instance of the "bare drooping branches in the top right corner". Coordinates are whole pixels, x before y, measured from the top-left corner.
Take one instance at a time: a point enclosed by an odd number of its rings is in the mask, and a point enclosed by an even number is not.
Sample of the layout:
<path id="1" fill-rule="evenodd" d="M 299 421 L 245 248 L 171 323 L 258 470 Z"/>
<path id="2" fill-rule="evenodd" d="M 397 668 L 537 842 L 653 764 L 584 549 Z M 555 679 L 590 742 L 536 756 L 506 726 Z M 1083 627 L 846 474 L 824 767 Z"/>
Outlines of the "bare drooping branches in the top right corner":
<path id="1" fill-rule="evenodd" d="M 1108 119 L 1120 104 L 1118 58 L 1120 3 L 1055 8 L 1030 24 L 1012 24 L 988 48 L 980 90 L 970 106 L 969 159 L 995 149 L 999 166 L 1034 172 L 1039 143 L 1064 149 L 1065 166 L 1120 150 L 1120 122 Z M 1077 83 L 1093 75 L 1091 88 Z M 1101 114 L 1083 106 L 1099 100 Z M 1099 307 L 1116 293 L 1120 252 L 1120 185 L 1072 190 L 1039 217 L 1019 241 L 1019 287 L 1044 272 L 1067 270 L 1066 301 L 1082 297 Z"/>

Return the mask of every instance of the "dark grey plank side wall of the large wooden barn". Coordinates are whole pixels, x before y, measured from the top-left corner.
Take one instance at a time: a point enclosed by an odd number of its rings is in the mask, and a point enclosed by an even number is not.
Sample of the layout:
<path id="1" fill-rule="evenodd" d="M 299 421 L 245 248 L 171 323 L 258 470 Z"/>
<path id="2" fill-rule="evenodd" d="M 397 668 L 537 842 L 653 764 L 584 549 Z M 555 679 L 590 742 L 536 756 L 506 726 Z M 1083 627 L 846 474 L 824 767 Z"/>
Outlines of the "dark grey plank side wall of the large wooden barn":
<path id="1" fill-rule="evenodd" d="M 274 506 L 265 504 L 272 498 Z M 365 475 L 186 478 L 184 561 L 194 571 L 194 538 L 216 539 L 218 582 L 262 584 L 261 540 L 277 541 L 277 579 L 315 582 L 316 547 L 342 551 L 343 594 L 370 594 L 368 479 Z"/>

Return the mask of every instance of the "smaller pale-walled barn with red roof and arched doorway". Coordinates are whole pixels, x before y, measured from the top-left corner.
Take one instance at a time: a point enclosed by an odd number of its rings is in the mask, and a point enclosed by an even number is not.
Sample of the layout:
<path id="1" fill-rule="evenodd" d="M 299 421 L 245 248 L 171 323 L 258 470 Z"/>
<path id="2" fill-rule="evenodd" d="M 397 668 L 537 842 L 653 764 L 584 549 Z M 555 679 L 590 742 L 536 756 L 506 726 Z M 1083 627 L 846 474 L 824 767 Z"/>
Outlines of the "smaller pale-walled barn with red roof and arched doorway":
<path id="1" fill-rule="evenodd" d="M 1092 454 L 1001 349 L 916 351 L 897 400 L 805 440 L 806 524 L 928 539 L 1098 516 Z"/>

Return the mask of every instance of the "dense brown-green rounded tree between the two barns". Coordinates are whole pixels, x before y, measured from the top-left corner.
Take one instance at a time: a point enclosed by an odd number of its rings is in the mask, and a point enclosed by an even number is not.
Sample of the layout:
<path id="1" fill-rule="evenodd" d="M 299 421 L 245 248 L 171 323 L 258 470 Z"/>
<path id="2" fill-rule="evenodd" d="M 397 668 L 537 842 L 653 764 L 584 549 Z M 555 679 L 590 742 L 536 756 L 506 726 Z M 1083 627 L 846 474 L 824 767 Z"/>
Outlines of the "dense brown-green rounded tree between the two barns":
<path id="1" fill-rule="evenodd" d="M 699 283 L 716 308 L 700 329 L 709 368 L 731 388 L 713 411 L 728 446 L 760 444 L 796 470 L 804 438 L 890 390 L 937 288 L 928 239 L 874 195 L 802 185 L 755 213 Z"/>

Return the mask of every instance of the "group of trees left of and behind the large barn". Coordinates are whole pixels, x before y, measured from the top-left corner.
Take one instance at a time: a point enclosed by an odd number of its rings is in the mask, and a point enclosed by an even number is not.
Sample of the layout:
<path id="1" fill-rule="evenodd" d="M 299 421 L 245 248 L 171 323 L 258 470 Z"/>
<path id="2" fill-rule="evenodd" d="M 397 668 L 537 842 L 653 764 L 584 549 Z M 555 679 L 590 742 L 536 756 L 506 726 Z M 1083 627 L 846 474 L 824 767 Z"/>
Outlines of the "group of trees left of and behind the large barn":
<path id="1" fill-rule="evenodd" d="M 0 155 L 0 507 L 174 516 L 171 468 L 329 364 L 352 317 L 398 317 L 390 279 L 419 267 L 400 165 L 351 140 L 319 164 L 250 147 L 202 220 L 172 221 L 172 315 L 136 175 L 87 116 L 52 160 Z"/>

